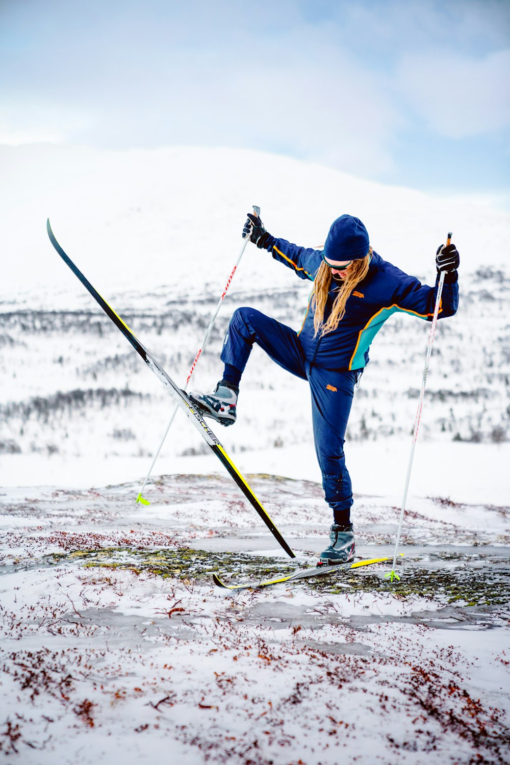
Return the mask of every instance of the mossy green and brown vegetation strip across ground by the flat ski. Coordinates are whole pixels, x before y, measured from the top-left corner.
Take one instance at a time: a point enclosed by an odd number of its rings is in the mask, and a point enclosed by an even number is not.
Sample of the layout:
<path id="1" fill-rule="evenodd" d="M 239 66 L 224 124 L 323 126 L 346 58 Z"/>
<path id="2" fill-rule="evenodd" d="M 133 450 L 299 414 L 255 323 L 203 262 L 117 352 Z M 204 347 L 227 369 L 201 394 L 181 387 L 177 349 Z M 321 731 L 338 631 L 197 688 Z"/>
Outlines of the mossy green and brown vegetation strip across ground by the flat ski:
<path id="1" fill-rule="evenodd" d="M 220 573 L 229 581 L 249 581 L 254 584 L 275 575 L 287 575 L 304 568 L 303 564 L 275 562 L 274 558 L 253 557 L 240 552 L 207 552 L 205 550 L 179 547 L 177 549 L 132 549 L 107 547 L 102 549 L 73 550 L 46 556 L 52 564 L 79 562 L 85 568 L 110 568 L 134 571 L 136 574 L 150 572 L 163 578 L 181 580 L 209 580 L 213 573 Z M 339 568 L 331 575 L 294 582 L 291 586 L 304 586 L 312 591 L 342 594 L 346 591 L 389 593 L 400 599 L 425 597 L 463 606 L 492 606 L 508 604 L 508 565 L 476 559 L 466 566 L 461 555 L 440 556 L 443 566 L 427 568 L 411 564 L 399 568 L 401 580 L 391 584 L 381 577 L 381 571 L 389 563 L 370 568 Z M 452 565 L 458 562 L 460 565 Z M 487 561 L 489 564 L 489 561 Z M 290 585 L 287 585 L 290 586 Z"/>

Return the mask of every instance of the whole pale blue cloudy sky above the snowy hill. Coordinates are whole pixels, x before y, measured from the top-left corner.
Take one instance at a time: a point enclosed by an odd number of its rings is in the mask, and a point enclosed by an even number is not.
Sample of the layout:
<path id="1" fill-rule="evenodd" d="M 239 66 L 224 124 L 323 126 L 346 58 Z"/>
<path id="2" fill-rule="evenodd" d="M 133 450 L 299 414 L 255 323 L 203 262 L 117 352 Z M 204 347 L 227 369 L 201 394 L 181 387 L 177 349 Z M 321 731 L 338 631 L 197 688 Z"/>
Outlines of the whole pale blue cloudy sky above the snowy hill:
<path id="1" fill-rule="evenodd" d="M 509 200 L 509 75 L 507 0 L 0 0 L 0 144 L 254 148 Z"/>

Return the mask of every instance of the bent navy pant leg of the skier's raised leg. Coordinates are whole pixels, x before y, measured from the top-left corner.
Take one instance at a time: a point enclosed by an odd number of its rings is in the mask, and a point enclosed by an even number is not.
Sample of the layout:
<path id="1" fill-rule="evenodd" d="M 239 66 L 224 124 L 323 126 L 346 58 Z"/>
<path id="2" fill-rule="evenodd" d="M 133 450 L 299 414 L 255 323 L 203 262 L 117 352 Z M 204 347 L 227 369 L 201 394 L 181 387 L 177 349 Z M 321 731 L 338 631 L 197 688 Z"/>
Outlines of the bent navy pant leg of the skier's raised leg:
<path id="1" fill-rule="evenodd" d="M 307 379 L 304 354 L 296 332 L 255 308 L 237 308 L 223 341 L 221 360 L 244 372 L 254 343 L 287 372 Z"/>

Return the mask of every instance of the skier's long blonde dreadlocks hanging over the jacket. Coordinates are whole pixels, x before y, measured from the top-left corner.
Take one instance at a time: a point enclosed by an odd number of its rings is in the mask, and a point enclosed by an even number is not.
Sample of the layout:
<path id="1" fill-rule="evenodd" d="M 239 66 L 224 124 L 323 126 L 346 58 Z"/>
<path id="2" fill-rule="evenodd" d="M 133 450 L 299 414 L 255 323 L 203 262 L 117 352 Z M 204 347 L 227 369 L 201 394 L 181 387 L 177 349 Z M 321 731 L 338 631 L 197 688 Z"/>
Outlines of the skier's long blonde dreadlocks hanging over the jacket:
<path id="1" fill-rule="evenodd" d="M 340 321 L 342 321 L 346 313 L 347 298 L 351 294 L 356 285 L 365 278 L 368 270 L 370 258 L 372 257 L 372 247 L 369 247 L 368 255 L 364 258 L 359 258 L 352 262 L 347 269 L 347 276 L 343 282 L 339 282 L 338 295 L 336 295 L 331 308 L 331 313 L 327 317 L 327 321 L 324 322 L 324 309 L 326 308 L 327 296 L 330 291 L 331 281 L 333 274 L 331 273 L 330 266 L 327 263 L 322 262 L 317 271 L 313 283 L 313 295 L 312 295 L 312 309 L 313 314 L 313 327 L 315 327 L 315 335 L 320 331 L 320 336 L 336 330 Z"/>

